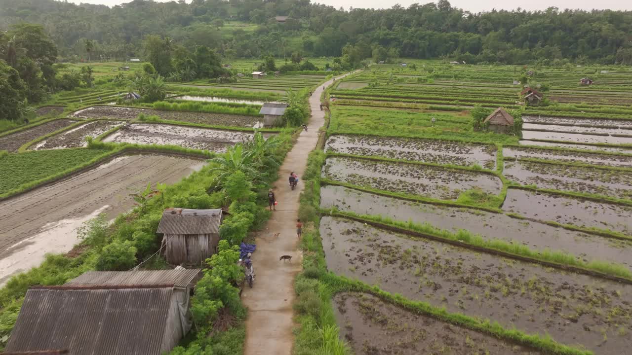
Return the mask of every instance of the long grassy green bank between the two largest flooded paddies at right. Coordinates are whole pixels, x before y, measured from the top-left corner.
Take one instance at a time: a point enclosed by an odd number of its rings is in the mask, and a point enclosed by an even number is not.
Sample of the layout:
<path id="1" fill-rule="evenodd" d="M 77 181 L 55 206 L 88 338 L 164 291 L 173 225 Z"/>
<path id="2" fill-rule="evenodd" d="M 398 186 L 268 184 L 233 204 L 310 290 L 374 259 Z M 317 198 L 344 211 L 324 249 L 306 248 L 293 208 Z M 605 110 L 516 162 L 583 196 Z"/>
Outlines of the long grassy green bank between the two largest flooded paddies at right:
<path id="1" fill-rule="evenodd" d="M 324 211 L 324 214 L 334 217 L 343 217 L 346 219 L 356 220 L 380 229 L 408 234 L 425 239 L 432 239 L 441 243 L 452 244 L 462 248 L 482 251 L 501 255 L 515 260 L 524 262 L 533 262 L 544 265 L 545 267 L 559 268 L 562 270 L 576 272 L 578 274 L 591 275 L 610 279 L 617 282 L 632 284 L 632 272 L 627 267 L 616 263 L 602 262 L 593 260 L 591 262 L 583 262 L 576 256 L 564 251 L 535 251 L 528 246 L 518 243 L 507 243 L 500 239 L 486 240 L 478 234 L 472 234 L 470 231 L 461 229 L 452 233 L 444 229 L 438 229 L 430 226 L 430 224 L 415 224 L 413 222 L 401 222 L 392 220 L 382 216 L 375 215 L 357 215 L 353 212 Z"/>

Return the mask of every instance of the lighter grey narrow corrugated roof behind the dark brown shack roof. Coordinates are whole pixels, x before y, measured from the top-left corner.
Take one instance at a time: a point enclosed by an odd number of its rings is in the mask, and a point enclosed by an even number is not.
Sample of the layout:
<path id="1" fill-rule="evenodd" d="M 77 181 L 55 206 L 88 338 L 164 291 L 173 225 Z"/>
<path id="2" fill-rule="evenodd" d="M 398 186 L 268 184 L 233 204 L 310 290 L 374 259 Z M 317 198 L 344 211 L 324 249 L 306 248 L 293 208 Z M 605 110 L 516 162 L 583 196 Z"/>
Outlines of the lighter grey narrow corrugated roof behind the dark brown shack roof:
<path id="1" fill-rule="evenodd" d="M 202 270 L 89 271 L 64 286 L 166 285 L 186 287 Z"/>

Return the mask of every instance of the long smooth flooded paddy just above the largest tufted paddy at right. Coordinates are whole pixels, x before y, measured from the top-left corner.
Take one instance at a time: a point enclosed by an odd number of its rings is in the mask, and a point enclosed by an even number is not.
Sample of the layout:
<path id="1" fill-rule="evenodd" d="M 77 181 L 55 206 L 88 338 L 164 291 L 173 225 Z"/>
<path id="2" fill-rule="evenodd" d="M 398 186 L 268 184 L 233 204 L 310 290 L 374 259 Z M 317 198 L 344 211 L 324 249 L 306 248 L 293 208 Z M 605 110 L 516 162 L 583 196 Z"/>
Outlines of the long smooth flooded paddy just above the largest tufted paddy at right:
<path id="1" fill-rule="evenodd" d="M 586 262 L 601 260 L 627 267 L 632 265 L 632 241 L 592 236 L 504 214 L 399 200 L 343 186 L 320 188 L 320 207 L 336 207 L 360 215 L 381 215 L 403 222 L 428 223 L 451 232 L 465 229 L 485 239 L 520 243 L 535 250 L 566 251 Z"/>

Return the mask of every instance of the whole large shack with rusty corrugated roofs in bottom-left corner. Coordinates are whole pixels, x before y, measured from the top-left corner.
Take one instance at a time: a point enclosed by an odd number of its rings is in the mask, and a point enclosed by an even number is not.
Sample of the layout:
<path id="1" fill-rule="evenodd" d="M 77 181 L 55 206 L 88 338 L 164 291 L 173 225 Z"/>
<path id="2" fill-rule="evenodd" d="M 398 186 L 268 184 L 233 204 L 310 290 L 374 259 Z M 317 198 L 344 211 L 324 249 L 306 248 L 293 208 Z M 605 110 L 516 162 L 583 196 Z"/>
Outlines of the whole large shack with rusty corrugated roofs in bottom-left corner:
<path id="1" fill-rule="evenodd" d="M 88 272 L 63 286 L 33 287 L 27 291 L 5 350 L 9 354 L 169 352 L 190 329 L 190 287 L 199 273 Z"/>

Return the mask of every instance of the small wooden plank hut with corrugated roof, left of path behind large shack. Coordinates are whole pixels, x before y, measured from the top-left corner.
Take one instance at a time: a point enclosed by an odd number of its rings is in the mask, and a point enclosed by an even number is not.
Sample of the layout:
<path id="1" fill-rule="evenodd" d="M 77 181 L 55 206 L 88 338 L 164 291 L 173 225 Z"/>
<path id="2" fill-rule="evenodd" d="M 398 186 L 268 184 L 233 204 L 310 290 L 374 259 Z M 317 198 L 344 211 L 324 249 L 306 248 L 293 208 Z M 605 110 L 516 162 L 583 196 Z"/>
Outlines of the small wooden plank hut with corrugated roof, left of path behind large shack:
<path id="1" fill-rule="evenodd" d="M 167 208 L 157 233 L 164 234 L 162 245 L 167 263 L 200 265 L 217 252 L 223 213 L 217 210 Z"/>

